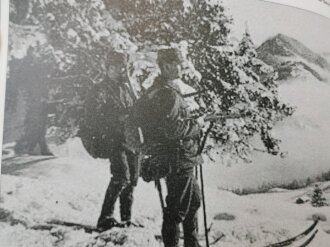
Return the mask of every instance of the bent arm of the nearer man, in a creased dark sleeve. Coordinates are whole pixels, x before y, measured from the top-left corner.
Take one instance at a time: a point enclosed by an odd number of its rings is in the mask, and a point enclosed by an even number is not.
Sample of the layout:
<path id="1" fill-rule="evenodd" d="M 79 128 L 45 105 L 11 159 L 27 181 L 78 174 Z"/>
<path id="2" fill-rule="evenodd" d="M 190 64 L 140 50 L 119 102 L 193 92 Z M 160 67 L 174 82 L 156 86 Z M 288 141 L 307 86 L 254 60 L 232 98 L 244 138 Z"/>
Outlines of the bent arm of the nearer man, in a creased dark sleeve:
<path id="1" fill-rule="evenodd" d="M 180 111 L 182 110 L 182 101 L 180 96 L 172 90 L 162 90 L 159 92 L 160 114 L 163 121 L 161 125 L 165 130 L 165 134 L 170 139 L 186 139 L 199 137 L 201 135 L 201 127 L 194 119 L 182 119 Z"/>

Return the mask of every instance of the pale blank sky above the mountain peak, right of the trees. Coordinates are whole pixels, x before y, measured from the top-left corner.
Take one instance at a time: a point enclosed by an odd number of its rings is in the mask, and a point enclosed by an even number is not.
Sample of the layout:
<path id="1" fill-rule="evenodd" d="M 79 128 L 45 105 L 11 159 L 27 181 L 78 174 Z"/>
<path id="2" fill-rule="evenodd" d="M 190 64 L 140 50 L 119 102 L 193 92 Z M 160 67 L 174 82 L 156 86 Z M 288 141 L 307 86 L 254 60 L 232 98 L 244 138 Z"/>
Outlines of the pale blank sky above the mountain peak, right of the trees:
<path id="1" fill-rule="evenodd" d="M 261 0 L 223 0 L 233 16 L 232 31 L 240 38 L 247 22 L 256 45 L 283 33 L 316 52 L 330 52 L 330 19 L 318 14 Z"/>

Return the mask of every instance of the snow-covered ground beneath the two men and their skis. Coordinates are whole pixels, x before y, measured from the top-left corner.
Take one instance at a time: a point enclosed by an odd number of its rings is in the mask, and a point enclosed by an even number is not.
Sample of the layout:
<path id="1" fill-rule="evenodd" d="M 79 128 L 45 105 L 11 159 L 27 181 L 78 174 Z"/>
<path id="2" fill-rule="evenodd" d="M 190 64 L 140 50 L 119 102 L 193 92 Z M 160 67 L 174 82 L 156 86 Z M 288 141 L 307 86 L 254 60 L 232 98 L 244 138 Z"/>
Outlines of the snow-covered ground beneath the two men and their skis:
<path id="1" fill-rule="evenodd" d="M 109 181 L 109 166 L 106 161 L 83 157 L 79 140 L 70 146 L 70 157 L 21 164 L 24 168 L 10 171 L 15 175 L 2 175 L 1 246 L 106 245 L 102 238 L 97 240 L 96 234 L 69 227 L 58 226 L 50 231 L 31 229 L 51 219 L 96 224 Z M 5 165 L 10 166 L 10 161 Z M 322 187 L 330 200 L 330 183 L 324 183 Z M 311 191 L 312 188 L 307 188 L 238 196 L 208 186 L 208 222 L 212 224 L 210 242 L 223 236 L 214 246 L 265 246 L 300 233 L 312 223 L 313 214 L 330 219 L 329 207 L 295 204 L 298 197 Z M 144 228 L 114 229 L 108 233 L 107 241 L 111 241 L 106 246 L 115 246 L 115 243 L 131 247 L 161 246 L 155 239 L 160 234 L 162 219 L 154 185 L 140 180 L 135 198 L 134 220 Z M 321 222 L 318 229 L 319 233 L 310 246 L 328 246 L 329 221 Z"/>

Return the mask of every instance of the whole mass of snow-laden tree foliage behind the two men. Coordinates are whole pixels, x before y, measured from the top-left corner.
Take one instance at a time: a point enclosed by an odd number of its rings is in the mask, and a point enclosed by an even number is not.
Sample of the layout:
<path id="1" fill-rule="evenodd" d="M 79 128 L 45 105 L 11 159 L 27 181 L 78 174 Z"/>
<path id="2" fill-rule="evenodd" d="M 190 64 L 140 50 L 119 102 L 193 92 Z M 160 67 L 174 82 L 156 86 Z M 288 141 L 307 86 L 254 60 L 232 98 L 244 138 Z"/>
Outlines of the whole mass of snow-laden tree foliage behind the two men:
<path id="1" fill-rule="evenodd" d="M 49 64 L 40 81 L 46 98 L 59 102 L 55 123 L 65 138 L 79 125 L 86 92 L 106 76 L 110 47 L 131 53 L 128 71 L 139 84 L 151 81 L 155 71 L 147 54 L 184 44 L 200 74 L 187 69 L 182 76 L 200 91 L 195 97 L 199 109 L 193 114 L 239 116 L 214 123 L 209 148 L 216 147 L 222 157 L 248 160 L 254 150 L 251 137 L 259 136 L 265 151 L 280 153 L 271 130 L 292 108 L 279 101 L 276 74 L 257 58 L 248 32 L 239 48 L 228 39 L 232 19 L 220 0 L 33 0 L 25 11 L 15 8 L 16 2 L 11 13 L 19 18 L 12 25 L 40 34 L 28 39 L 35 41 L 23 50 L 40 57 L 36 64 Z M 12 40 L 11 47 L 17 48 L 15 42 L 22 39 Z"/>

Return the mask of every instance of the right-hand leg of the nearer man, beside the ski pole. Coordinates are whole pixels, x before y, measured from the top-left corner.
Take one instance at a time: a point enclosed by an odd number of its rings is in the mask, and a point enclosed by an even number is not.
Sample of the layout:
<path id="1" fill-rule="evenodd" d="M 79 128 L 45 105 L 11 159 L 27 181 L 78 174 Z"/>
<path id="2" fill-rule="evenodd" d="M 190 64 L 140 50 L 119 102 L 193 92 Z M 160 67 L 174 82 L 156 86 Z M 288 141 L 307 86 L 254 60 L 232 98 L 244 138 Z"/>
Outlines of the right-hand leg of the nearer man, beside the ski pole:
<path id="1" fill-rule="evenodd" d="M 201 204 L 201 192 L 196 179 L 192 180 L 192 197 L 188 213 L 183 221 L 184 246 L 200 247 L 198 243 L 198 221 L 197 211 Z"/>

